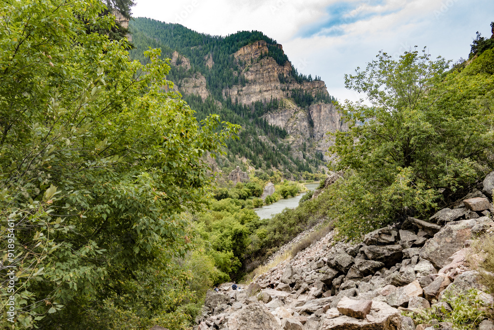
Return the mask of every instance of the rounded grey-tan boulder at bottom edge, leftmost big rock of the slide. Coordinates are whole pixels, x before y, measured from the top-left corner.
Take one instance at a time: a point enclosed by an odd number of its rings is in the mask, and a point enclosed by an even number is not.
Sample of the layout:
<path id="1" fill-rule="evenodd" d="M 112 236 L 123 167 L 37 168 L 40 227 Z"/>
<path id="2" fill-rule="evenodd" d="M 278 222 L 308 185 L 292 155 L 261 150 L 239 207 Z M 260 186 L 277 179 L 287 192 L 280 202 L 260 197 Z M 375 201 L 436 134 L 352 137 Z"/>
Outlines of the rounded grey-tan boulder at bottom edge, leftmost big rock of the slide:
<path id="1" fill-rule="evenodd" d="M 228 330 L 282 330 L 276 318 L 262 303 L 247 305 L 233 313 L 228 320 Z"/>

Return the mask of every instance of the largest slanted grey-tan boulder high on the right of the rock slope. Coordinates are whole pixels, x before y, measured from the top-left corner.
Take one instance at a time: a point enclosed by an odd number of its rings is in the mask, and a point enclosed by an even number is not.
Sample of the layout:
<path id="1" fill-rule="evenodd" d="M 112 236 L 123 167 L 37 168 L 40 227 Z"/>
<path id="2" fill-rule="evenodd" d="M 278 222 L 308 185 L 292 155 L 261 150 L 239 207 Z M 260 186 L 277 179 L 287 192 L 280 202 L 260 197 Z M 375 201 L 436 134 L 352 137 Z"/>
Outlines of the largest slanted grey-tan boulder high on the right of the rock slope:
<path id="1" fill-rule="evenodd" d="M 420 249 L 420 258 L 429 260 L 438 269 L 442 268 L 446 260 L 454 252 L 462 249 L 466 240 L 471 238 L 472 228 L 485 220 L 490 221 L 488 217 L 482 217 L 476 220 L 460 220 L 446 224 Z"/>

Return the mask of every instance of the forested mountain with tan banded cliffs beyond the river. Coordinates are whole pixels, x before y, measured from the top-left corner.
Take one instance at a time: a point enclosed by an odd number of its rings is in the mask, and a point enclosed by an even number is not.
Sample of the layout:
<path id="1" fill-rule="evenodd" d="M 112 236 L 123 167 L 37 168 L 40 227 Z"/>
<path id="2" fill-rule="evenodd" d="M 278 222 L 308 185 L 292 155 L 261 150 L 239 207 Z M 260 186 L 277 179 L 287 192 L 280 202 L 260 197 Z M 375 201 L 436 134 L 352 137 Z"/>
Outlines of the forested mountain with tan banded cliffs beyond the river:
<path id="1" fill-rule="evenodd" d="M 135 18 L 129 28 L 131 56 L 144 62 L 144 50 L 161 48 L 162 58 L 170 58 L 168 79 L 198 120 L 217 113 L 243 126 L 219 168 L 244 162 L 287 177 L 324 169 L 327 132 L 346 126 L 325 83 L 299 74 L 282 45 L 258 31 L 210 36 L 148 18 Z"/>

